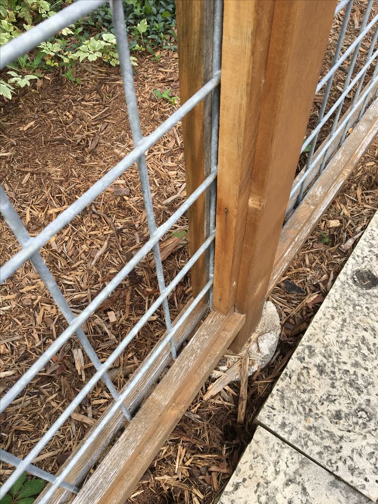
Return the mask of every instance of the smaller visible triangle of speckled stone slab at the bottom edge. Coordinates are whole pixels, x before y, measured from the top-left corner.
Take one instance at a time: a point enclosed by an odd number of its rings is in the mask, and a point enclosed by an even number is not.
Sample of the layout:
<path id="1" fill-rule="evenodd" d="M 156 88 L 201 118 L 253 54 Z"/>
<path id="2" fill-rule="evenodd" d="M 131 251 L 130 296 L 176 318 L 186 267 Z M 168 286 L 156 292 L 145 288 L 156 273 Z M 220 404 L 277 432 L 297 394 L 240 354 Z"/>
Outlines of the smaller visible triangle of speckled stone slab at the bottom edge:
<path id="1" fill-rule="evenodd" d="M 369 499 L 262 427 L 218 504 L 365 504 Z"/>

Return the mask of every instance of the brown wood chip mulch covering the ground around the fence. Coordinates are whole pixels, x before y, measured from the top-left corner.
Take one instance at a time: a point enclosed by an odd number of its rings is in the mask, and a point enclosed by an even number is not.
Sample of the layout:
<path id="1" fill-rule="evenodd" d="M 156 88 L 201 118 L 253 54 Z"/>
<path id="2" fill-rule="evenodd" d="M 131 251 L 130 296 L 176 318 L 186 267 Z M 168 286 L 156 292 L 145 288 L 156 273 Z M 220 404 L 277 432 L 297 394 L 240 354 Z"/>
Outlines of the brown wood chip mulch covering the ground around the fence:
<path id="1" fill-rule="evenodd" d="M 356 3 L 351 20 L 354 26 L 361 22 L 363 4 Z M 335 21 L 335 30 L 337 24 L 339 20 Z M 330 65 L 329 54 L 334 44 L 331 37 L 324 73 Z M 142 131 L 148 134 L 179 106 L 158 101 L 153 94 L 154 89 L 167 88 L 179 94 L 177 53 L 166 51 L 158 63 L 149 57 L 139 57 L 138 65 L 136 90 Z M 51 74 L 33 83 L 30 90 L 21 92 L 12 102 L 1 105 L 2 184 L 31 236 L 39 233 L 132 148 L 119 70 L 83 65 L 78 76 L 80 85 L 64 80 L 58 73 Z M 335 77 L 335 93 L 340 92 L 337 86 L 343 76 L 345 72 L 341 71 Z M 349 104 L 350 99 L 346 107 Z M 315 99 L 309 129 L 314 127 L 317 112 Z M 322 135 L 326 134 L 325 130 Z M 319 136 L 319 141 L 324 136 Z M 216 502 L 252 438 L 258 409 L 377 208 L 377 155 L 375 141 L 270 297 L 280 314 L 282 334 L 273 361 L 249 380 L 244 423 L 236 422 L 239 385 L 230 384 L 204 401 L 210 384 L 207 382 L 129 502 Z M 186 197 L 183 161 L 179 125 L 147 153 L 158 225 Z M 304 161 L 302 157 L 300 164 Z M 338 224 L 330 227 L 331 220 Z M 0 226 L 4 263 L 19 247 L 3 219 Z M 171 252 L 163 262 L 167 279 L 173 278 L 187 260 L 185 240 L 172 236 L 172 232 L 186 227 L 183 217 L 165 237 L 162 253 Z M 41 253 L 73 311 L 79 312 L 147 238 L 139 177 L 136 166 L 132 166 Z M 151 260 L 151 256 L 143 260 L 88 320 L 85 329 L 100 359 L 107 358 L 156 299 L 158 286 Z M 285 280 L 289 283 L 285 284 Z M 297 292 L 292 292 L 290 282 L 299 288 Z M 190 296 L 190 275 L 187 275 L 169 298 L 173 317 Z M 39 275 L 29 264 L 18 269 L 2 287 L 2 300 L 1 393 L 20 378 L 66 327 Z M 158 310 L 115 363 L 111 376 L 118 389 L 163 334 L 161 319 Z M 5 450 L 24 457 L 77 395 L 93 375 L 89 360 L 85 354 L 81 356 L 80 345 L 71 339 L 7 408 L 1 428 L 1 445 Z M 109 393 L 99 383 L 77 408 L 75 418 L 64 424 L 35 463 L 56 472 L 110 402 Z M 11 472 L 7 464 L 0 465 L 2 478 Z"/>

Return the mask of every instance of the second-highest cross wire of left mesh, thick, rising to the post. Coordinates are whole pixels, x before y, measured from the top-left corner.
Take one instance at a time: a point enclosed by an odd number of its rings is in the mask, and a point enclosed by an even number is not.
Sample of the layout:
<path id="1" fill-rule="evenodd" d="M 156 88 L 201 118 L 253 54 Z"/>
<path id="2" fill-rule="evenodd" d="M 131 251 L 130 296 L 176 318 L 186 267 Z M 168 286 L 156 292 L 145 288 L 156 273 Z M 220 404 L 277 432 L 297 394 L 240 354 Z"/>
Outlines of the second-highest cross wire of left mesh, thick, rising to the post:
<path id="1" fill-rule="evenodd" d="M 30 238 L 30 242 L 18 251 L 8 262 L 0 269 L 0 281 L 5 282 L 17 268 L 23 265 L 31 255 L 84 210 L 89 203 L 97 198 L 108 186 L 122 175 L 131 164 L 150 147 L 152 147 L 165 133 L 172 129 L 186 114 L 192 110 L 205 96 L 207 96 L 220 82 L 220 72 L 202 86 L 190 99 L 179 107 L 172 116 L 168 117 L 152 133 L 144 137 L 144 140 L 138 144 L 127 156 L 117 163 L 107 174 L 94 183 L 80 198 L 74 201 L 66 210 L 58 215 L 48 226 L 46 226 L 37 236 Z M 1 202 L 0 202 L 1 208 Z"/>

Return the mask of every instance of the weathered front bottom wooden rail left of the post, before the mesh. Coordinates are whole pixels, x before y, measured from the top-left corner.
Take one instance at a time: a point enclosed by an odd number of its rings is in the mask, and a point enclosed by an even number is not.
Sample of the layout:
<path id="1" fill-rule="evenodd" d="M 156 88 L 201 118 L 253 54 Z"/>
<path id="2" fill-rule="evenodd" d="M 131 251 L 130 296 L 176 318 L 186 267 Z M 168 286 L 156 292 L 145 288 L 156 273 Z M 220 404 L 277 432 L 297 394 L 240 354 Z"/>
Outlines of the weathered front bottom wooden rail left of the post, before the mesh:
<path id="1" fill-rule="evenodd" d="M 123 504 L 244 322 L 212 311 L 74 504 Z"/>

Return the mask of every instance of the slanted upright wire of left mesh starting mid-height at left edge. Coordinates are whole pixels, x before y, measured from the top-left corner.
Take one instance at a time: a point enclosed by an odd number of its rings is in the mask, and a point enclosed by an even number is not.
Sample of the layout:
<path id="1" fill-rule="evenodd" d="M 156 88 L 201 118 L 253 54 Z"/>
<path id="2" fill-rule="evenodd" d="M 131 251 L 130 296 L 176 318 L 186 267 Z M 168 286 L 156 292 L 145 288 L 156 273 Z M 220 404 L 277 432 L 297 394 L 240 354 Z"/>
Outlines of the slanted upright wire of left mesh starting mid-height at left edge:
<path id="1" fill-rule="evenodd" d="M 2 186 L 0 186 L 0 199 L 2 206 L 2 214 L 4 215 L 5 220 L 7 221 L 10 229 L 17 238 L 18 242 L 20 242 L 22 246 L 25 246 L 27 241 L 30 239 L 29 233 L 27 232 L 25 226 L 23 225 L 23 222 L 20 219 L 20 217 L 18 217 L 17 212 L 14 210 Z M 45 284 L 47 290 L 50 292 L 56 305 L 61 310 L 68 324 L 70 324 L 74 320 L 75 315 L 72 313 L 71 308 L 69 307 L 60 288 L 58 287 L 58 284 L 56 284 L 54 277 L 50 273 L 50 270 L 48 269 L 44 260 L 42 259 L 41 254 L 39 252 L 34 252 L 34 254 L 31 256 L 30 259 L 34 269 L 40 275 L 43 283 Z M 98 358 L 97 353 L 94 351 L 92 345 L 90 344 L 87 335 L 85 334 L 83 329 L 79 328 L 76 331 L 76 336 L 80 341 L 82 347 L 84 348 L 84 351 L 87 353 L 87 356 L 93 363 L 93 366 L 97 370 L 99 370 L 101 367 L 100 359 Z M 102 380 L 109 389 L 110 394 L 117 401 L 120 396 L 118 394 L 116 387 L 114 386 L 108 375 L 107 374 L 104 375 Z M 122 404 L 121 409 L 127 420 L 131 420 L 131 414 L 124 404 Z"/>

